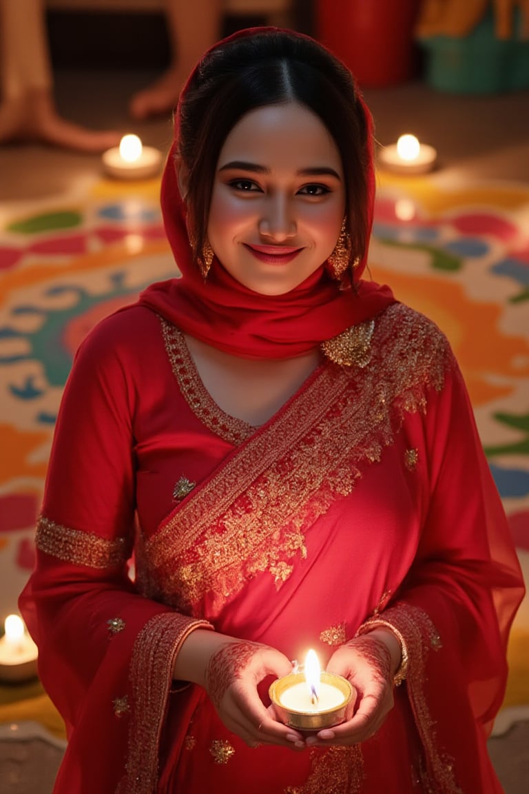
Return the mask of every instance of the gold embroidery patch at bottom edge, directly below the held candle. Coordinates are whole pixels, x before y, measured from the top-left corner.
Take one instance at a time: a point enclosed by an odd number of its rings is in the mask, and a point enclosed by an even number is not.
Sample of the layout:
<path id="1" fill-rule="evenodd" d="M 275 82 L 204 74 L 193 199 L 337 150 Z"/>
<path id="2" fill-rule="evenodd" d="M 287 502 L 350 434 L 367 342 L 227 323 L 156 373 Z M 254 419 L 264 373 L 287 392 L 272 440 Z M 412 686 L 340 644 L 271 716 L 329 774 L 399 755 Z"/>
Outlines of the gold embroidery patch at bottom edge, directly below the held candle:
<path id="1" fill-rule="evenodd" d="M 312 770 L 301 794 L 359 794 L 362 791 L 363 757 L 360 745 L 330 747 L 311 753 Z"/>

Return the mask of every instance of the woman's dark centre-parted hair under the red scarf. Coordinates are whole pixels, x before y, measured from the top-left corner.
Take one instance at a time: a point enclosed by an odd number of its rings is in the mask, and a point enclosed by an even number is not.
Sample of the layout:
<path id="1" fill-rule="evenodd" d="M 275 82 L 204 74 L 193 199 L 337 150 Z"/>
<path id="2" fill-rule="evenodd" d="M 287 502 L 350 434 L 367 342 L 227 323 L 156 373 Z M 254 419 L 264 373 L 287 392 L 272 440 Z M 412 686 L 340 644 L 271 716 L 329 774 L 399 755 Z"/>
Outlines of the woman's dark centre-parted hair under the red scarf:
<path id="1" fill-rule="evenodd" d="M 342 157 L 351 262 L 368 244 L 370 125 L 351 73 L 316 41 L 289 31 L 233 38 L 207 53 L 179 109 L 179 151 L 194 258 L 205 243 L 220 149 L 251 110 L 299 102 L 331 133 Z"/>

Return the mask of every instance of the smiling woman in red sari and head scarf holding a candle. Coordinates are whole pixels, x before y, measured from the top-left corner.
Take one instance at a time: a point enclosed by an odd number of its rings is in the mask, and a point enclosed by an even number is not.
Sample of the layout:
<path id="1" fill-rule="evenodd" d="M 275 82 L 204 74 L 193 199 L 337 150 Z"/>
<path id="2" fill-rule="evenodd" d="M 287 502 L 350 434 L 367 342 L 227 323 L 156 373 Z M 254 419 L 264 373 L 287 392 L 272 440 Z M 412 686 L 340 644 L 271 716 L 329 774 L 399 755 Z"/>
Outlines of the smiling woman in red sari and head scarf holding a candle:
<path id="1" fill-rule="evenodd" d="M 205 55 L 163 177 L 182 279 L 79 349 L 21 596 L 59 794 L 500 792 L 522 581 L 447 340 L 362 279 L 373 197 L 319 44 Z M 318 734 L 266 694 L 309 648 L 357 692 Z"/>

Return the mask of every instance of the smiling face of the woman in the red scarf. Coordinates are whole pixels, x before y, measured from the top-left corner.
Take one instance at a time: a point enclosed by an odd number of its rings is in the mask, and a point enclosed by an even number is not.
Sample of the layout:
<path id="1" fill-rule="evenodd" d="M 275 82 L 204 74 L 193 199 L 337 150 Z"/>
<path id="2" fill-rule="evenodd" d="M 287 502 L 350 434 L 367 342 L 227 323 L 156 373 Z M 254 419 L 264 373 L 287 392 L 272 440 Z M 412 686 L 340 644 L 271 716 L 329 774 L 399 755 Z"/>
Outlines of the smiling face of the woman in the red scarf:
<path id="1" fill-rule="evenodd" d="M 248 289 L 284 295 L 332 253 L 345 214 L 342 160 L 320 118 L 296 102 L 243 116 L 220 150 L 208 237 Z"/>

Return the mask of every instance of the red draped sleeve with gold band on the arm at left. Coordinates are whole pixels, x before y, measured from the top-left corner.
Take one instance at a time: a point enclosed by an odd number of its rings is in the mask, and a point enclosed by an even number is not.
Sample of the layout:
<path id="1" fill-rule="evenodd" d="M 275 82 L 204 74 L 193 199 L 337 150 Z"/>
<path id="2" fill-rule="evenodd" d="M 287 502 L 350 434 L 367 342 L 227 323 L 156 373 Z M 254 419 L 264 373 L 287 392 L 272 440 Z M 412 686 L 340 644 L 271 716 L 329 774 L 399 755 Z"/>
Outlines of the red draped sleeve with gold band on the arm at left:
<path id="1" fill-rule="evenodd" d="M 39 647 L 40 679 L 69 734 L 59 794 L 116 790 L 147 718 L 154 744 L 144 746 L 144 769 L 155 774 L 160 731 L 153 726 L 167 710 L 174 655 L 190 630 L 210 627 L 144 598 L 128 576 L 137 311 L 107 318 L 75 357 L 52 445 L 36 568 L 20 599 Z"/>

